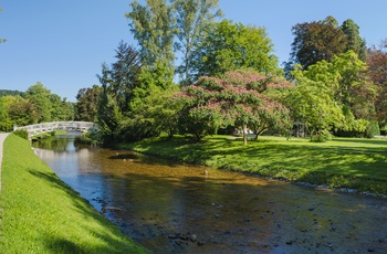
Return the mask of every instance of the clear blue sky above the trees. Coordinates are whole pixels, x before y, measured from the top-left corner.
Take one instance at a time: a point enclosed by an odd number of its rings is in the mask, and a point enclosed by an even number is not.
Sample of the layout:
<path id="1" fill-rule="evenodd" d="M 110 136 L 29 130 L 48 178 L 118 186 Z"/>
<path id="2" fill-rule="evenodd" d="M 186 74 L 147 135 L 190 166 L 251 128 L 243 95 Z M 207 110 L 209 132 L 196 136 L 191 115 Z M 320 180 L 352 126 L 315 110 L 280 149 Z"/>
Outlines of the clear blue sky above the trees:
<path id="1" fill-rule="evenodd" d="M 98 84 L 103 62 L 124 40 L 135 44 L 124 15 L 130 0 L 0 0 L 0 88 L 24 92 L 36 82 L 75 102 Z M 139 2 L 144 2 L 139 1 Z M 387 38 L 386 0 L 219 0 L 224 18 L 264 27 L 280 62 L 287 61 L 296 23 L 333 15 L 353 19 L 368 46 Z"/>

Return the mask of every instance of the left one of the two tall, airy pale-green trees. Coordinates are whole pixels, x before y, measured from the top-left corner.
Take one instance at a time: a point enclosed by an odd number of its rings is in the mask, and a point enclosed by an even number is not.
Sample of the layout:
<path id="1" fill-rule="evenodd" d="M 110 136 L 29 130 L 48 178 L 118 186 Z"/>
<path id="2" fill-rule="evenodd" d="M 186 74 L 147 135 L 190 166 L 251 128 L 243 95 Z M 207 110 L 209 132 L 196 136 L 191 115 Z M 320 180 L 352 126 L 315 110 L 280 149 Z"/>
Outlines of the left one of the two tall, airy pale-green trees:
<path id="1" fill-rule="evenodd" d="M 139 44 L 142 64 L 148 67 L 164 65 L 174 71 L 174 18 L 172 8 L 165 0 L 136 0 L 125 13 L 130 31 Z"/>

